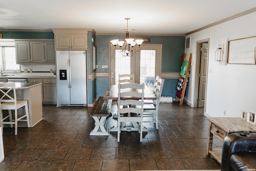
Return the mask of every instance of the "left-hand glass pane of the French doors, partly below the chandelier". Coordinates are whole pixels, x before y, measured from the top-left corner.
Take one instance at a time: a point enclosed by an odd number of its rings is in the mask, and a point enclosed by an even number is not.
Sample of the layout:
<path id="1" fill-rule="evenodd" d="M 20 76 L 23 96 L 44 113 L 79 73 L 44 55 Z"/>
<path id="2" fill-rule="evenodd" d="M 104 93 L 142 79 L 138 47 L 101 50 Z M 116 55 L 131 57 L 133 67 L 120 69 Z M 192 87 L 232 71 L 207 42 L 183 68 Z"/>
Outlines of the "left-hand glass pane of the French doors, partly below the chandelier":
<path id="1" fill-rule="evenodd" d="M 123 57 L 122 52 L 115 52 L 115 78 L 116 84 L 118 84 L 119 74 L 130 74 L 131 73 L 131 57 Z"/>

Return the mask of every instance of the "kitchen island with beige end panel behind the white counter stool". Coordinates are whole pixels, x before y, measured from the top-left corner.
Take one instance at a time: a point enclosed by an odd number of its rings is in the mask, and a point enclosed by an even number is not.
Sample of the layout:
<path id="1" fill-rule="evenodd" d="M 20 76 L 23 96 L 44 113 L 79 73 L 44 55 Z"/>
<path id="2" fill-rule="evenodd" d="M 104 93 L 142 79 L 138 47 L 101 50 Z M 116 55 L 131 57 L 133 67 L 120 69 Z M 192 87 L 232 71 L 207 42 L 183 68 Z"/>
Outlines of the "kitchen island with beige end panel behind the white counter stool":
<path id="1" fill-rule="evenodd" d="M 33 127 L 43 119 L 41 84 L 42 83 L 15 83 L 17 99 L 28 100 L 30 127 Z M 19 110 L 18 113 L 24 112 Z M 6 124 L 6 126 L 8 126 L 8 124 Z M 26 122 L 18 122 L 18 127 L 27 126 Z"/>

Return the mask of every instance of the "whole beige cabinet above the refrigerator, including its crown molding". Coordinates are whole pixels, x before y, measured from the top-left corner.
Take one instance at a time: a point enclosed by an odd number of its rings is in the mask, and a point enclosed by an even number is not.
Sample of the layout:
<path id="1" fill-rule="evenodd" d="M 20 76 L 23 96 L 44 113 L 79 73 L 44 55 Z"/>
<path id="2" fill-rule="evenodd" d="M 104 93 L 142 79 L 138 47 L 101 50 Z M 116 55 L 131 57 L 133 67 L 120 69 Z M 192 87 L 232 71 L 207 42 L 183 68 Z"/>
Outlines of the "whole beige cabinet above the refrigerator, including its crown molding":
<path id="1" fill-rule="evenodd" d="M 55 50 L 87 50 L 88 29 L 52 29 Z"/>

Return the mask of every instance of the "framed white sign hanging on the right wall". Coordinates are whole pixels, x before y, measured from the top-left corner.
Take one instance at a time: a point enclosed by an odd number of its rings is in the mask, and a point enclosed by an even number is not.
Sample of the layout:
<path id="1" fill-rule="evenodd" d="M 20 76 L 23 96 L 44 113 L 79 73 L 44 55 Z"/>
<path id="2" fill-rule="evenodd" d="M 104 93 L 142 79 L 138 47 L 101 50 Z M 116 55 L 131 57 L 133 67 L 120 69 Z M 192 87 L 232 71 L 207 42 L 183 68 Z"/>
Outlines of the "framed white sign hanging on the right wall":
<path id="1" fill-rule="evenodd" d="M 228 64 L 256 64 L 256 36 L 230 40 Z"/>

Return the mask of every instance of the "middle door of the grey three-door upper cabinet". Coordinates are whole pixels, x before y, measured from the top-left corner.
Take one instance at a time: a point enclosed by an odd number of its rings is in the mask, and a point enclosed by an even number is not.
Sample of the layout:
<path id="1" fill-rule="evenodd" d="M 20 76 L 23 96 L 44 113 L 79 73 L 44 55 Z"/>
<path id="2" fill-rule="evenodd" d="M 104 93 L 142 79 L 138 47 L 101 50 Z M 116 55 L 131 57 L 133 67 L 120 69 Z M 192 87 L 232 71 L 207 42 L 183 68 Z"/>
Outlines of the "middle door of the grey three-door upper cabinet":
<path id="1" fill-rule="evenodd" d="M 30 42 L 31 62 L 44 62 L 44 42 Z"/>

